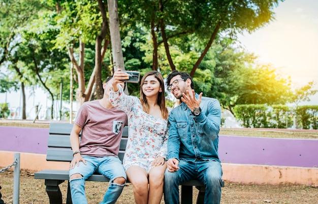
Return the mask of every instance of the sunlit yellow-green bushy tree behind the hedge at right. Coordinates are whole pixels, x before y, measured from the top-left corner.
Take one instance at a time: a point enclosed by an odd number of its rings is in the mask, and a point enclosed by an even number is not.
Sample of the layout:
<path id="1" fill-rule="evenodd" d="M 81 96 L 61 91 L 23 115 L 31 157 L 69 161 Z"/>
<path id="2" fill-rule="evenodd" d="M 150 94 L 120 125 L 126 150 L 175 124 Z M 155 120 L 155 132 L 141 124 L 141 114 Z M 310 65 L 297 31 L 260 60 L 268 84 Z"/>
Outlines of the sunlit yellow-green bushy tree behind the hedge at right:
<path id="1" fill-rule="evenodd" d="M 290 77 L 282 77 L 272 65 L 258 64 L 257 56 L 235 43 L 229 38 L 214 42 L 194 77 L 196 91 L 217 98 L 230 111 L 238 104 L 287 103 Z"/>

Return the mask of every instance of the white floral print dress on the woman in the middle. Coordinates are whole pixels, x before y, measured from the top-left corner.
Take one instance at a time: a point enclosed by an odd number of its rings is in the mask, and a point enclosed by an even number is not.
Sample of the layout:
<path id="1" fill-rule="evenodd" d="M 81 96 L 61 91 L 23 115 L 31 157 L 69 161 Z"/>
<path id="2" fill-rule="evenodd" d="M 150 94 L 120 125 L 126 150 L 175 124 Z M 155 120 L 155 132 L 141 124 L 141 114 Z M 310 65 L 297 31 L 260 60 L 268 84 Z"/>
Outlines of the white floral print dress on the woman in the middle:
<path id="1" fill-rule="evenodd" d="M 117 92 L 111 90 L 109 99 L 113 106 L 128 115 L 129 137 L 122 162 L 124 169 L 137 165 L 149 172 L 156 157 L 167 158 L 168 120 L 144 112 L 140 100 L 125 95 L 121 87 Z"/>

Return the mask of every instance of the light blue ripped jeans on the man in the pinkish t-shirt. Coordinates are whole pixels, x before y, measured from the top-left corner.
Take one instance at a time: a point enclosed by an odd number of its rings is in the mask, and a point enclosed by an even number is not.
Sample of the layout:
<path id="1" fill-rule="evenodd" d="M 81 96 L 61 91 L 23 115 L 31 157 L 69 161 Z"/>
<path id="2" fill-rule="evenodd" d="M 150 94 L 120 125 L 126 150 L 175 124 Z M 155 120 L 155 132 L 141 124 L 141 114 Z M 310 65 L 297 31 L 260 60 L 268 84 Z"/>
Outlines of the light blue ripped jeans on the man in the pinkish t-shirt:
<path id="1" fill-rule="evenodd" d="M 120 196 L 123 185 L 113 183 L 114 179 L 123 177 L 127 179 L 126 172 L 123 169 L 121 161 L 114 156 L 106 157 L 87 157 L 83 156 L 86 161 L 86 165 L 83 162 L 79 163 L 79 166 L 75 165 L 73 169 L 70 169 L 70 177 L 79 173 L 82 178 L 70 179 L 70 188 L 73 204 L 87 204 L 85 195 L 85 181 L 94 172 L 98 172 L 105 177 L 109 178 L 108 190 L 104 195 L 104 199 L 100 204 L 115 203 Z"/>

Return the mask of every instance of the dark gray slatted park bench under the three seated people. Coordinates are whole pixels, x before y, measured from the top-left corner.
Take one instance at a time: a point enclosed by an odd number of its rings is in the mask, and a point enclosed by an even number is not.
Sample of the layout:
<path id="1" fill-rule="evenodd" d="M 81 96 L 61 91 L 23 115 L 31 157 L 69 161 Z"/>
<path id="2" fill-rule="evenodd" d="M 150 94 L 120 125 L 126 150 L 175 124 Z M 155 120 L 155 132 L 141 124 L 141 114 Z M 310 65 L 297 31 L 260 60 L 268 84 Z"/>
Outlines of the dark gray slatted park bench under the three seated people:
<path id="1" fill-rule="evenodd" d="M 67 123 L 51 123 L 48 137 L 48 149 L 46 154 L 47 161 L 71 162 L 73 159 L 73 151 L 70 144 L 70 134 L 73 124 Z M 118 157 L 122 161 L 124 151 L 126 149 L 128 139 L 128 127 L 124 127 L 120 142 Z M 46 192 L 50 199 L 50 204 L 62 204 L 62 194 L 59 184 L 69 181 L 68 170 L 42 170 L 35 173 L 35 179 L 44 179 Z M 93 174 L 86 181 L 109 182 L 109 179 L 100 175 Z M 129 181 L 128 181 L 129 182 Z M 224 183 L 223 183 L 224 185 Z M 181 184 L 181 204 L 192 203 L 193 186 L 196 186 L 200 192 L 197 203 L 203 203 L 204 186 L 199 181 L 193 180 Z M 72 204 L 70 185 L 67 190 L 67 204 Z"/>

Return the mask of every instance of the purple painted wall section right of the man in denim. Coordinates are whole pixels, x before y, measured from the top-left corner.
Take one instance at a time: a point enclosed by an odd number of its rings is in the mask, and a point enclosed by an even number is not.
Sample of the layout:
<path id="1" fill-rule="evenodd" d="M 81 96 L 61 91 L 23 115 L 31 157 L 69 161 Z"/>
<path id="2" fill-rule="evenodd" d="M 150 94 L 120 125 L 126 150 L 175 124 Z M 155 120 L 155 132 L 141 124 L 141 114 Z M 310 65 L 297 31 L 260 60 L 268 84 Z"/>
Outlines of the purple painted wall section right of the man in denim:
<path id="1" fill-rule="evenodd" d="M 219 136 L 225 163 L 318 167 L 318 139 Z"/>

